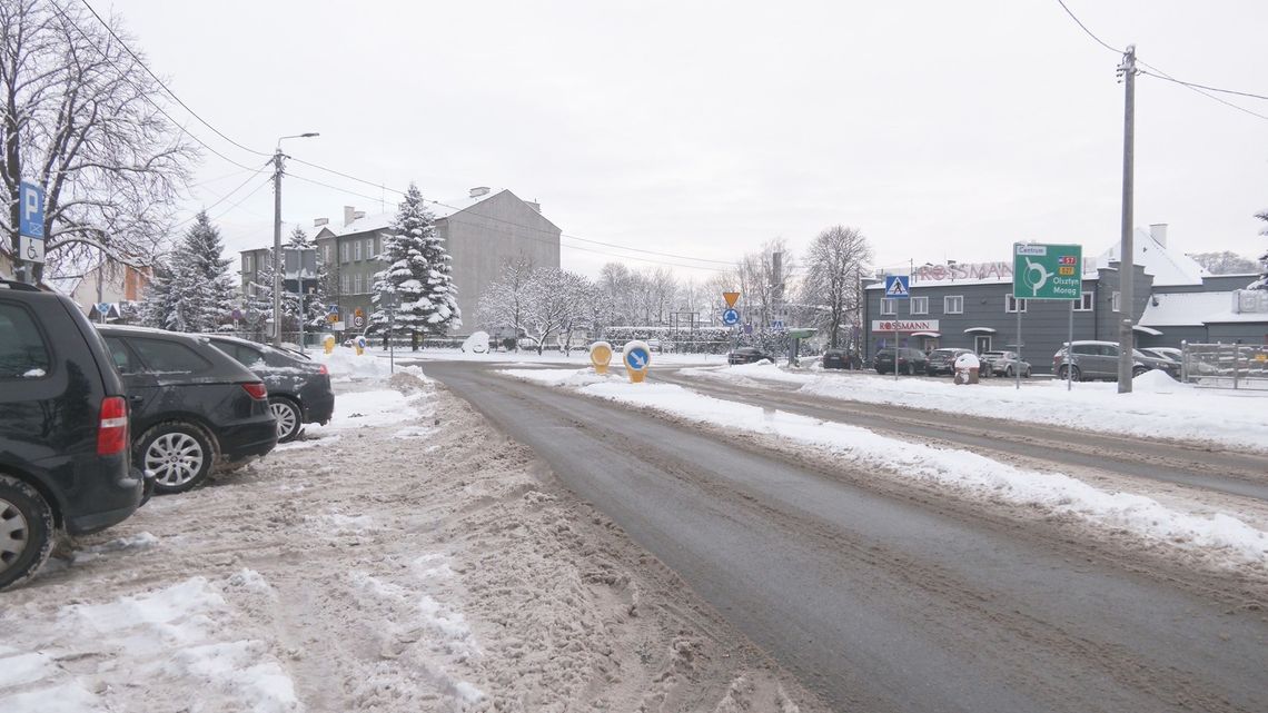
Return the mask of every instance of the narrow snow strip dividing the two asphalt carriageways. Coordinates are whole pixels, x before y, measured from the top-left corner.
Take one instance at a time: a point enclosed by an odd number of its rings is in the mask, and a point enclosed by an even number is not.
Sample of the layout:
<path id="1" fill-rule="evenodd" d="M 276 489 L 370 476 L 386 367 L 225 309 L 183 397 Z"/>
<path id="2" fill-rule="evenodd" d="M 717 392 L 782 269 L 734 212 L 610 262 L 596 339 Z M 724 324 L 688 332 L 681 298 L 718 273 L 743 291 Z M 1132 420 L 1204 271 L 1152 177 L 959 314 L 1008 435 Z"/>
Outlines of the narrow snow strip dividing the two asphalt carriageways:
<path id="1" fill-rule="evenodd" d="M 567 381 L 567 377 L 560 379 L 562 374 L 541 370 L 516 372 L 515 376 L 554 386 Z M 962 393 L 962 387 L 948 388 Z M 1268 533 L 1226 514 L 1182 513 L 1150 497 L 1106 492 L 1061 473 L 1023 471 L 966 450 L 933 448 L 885 438 L 857 426 L 710 398 L 673 384 L 605 382 L 577 389 L 697 424 L 822 447 L 898 477 L 932 480 L 983 497 L 1073 514 L 1099 527 L 1125 529 L 1179 547 L 1220 551 L 1235 562 L 1268 563 Z"/>

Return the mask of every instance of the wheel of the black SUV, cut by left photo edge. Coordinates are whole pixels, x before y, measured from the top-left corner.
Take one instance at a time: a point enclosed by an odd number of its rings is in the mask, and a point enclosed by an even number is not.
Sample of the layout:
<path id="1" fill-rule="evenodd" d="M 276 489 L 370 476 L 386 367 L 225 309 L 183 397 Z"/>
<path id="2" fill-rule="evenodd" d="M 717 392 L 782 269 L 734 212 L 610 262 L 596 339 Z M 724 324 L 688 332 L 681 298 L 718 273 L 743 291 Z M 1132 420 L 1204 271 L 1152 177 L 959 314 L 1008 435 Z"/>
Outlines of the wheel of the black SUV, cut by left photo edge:
<path id="1" fill-rule="evenodd" d="M 36 573 L 53 551 L 53 510 L 39 491 L 0 476 L 0 589 Z"/>

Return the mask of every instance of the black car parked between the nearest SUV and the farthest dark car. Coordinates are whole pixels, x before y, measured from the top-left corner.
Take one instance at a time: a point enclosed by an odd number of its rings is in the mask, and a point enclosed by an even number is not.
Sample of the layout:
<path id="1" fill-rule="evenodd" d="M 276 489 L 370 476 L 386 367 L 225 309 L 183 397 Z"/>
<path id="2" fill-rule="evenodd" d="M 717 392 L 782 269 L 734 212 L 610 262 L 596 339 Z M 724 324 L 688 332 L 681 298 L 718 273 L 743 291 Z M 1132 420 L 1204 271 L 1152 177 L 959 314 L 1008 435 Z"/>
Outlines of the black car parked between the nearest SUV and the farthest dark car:
<path id="1" fill-rule="evenodd" d="M 269 389 L 207 337 L 98 326 L 132 405 L 132 457 L 155 472 L 155 492 L 184 492 L 213 467 L 278 444 Z"/>

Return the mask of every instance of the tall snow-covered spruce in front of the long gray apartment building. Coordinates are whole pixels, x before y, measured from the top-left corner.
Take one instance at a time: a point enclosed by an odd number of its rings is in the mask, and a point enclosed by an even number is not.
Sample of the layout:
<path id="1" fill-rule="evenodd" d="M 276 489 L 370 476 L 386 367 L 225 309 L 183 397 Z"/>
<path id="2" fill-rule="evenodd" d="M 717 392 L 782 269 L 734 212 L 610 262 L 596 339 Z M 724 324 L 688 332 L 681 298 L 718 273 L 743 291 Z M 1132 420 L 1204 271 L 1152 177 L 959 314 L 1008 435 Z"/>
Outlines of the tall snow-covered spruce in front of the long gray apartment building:
<path id="1" fill-rule="evenodd" d="M 462 329 L 451 258 L 436 235 L 422 193 L 412 183 L 391 230 L 379 255 L 388 266 L 374 274 L 370 326 L 380 331 L 387 329 L 388 317 L 382 304 L 384 298 L 394 296 L 394 331 L 398 334 L 444 334 Z"/>

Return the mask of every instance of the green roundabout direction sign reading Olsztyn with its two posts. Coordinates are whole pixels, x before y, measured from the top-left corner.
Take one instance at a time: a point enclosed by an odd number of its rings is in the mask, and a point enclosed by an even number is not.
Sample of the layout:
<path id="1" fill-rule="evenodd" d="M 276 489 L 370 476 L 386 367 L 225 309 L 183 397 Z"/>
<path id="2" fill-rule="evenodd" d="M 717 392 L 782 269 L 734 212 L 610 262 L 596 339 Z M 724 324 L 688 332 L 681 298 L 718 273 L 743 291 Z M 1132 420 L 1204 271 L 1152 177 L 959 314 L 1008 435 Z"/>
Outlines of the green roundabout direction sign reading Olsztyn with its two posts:
<path id="1" fill-rule="evenodd" d="M 1017 359 L 1022 359 L 1021 299 L 1070 302 L 1069 340 L 1065 344 L 1065 389 L 1073 388 L 1074 302 L 1083 299 L 1083 246 L 1013 244 L 1013 308 L 1017 311 Z M 1017 369 L 1017 388 L 1022 387 Z"/>

